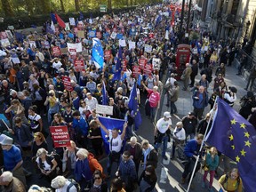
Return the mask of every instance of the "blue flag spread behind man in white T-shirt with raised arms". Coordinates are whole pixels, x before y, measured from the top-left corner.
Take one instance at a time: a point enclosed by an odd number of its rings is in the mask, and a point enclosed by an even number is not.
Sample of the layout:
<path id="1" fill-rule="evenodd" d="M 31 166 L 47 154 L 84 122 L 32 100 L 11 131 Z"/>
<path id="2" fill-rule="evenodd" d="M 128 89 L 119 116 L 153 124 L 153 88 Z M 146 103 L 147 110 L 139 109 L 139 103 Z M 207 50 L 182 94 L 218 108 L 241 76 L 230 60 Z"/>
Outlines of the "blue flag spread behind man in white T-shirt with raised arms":
<path id="1" fill-rule="evenodd" d="M 110 139 L 112 138 L 111 131 L 114 128 L 117 128 L 119 130 L 119 134 L 121 132 L 123 132 L 123 128 L 124 128 L 124 120 L 123 119 L 99 116 L 99 121 L 101 124 L 103 124 L 108 129 L 108 132 L 110 134 Z M 106 132 L 104 132 L 102 129 L 100 129 L 100 130 L 101 130 L 101 135 L 102 135 L 102 139 L 104 142 L 104 148 L 105 148 L 106 154 L 108 154 L 110 139 L 108 138 L 108 135 L 106 134 Z"/>

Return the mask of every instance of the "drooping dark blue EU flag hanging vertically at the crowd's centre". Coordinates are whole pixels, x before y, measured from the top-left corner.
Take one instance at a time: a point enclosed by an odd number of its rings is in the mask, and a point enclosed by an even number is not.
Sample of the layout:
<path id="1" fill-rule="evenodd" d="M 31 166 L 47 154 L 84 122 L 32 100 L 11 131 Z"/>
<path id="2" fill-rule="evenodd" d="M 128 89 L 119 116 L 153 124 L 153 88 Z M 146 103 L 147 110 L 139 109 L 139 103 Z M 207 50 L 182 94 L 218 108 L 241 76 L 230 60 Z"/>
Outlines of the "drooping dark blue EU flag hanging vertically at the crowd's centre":
<path id="1" fill-rule="evenodd" d="M 137 83 L 135 82 L 130 93 L 128 107 L 133 111 L 135 130 L 139 129 L 142 122 L 137 97 Z"/>

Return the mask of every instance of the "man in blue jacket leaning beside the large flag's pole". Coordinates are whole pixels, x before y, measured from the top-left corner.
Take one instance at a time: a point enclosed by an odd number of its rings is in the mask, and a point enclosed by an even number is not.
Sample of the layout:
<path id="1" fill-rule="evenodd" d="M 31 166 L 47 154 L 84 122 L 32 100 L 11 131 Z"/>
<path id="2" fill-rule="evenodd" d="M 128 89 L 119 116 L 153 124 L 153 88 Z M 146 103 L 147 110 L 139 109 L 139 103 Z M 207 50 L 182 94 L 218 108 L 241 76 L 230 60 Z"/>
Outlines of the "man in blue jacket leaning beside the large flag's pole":
<path id="1" fill-rule="evenodd" d="M 201 156 L 199 152 L 199 149 L 201 148 L 202 142 L 204 140 L 204 135 L 198 134 L 196 136 L 196 139 L 189 140 L 186 144 L 186 147 L 184 148 L 184 155 L 186 156 L 186 163 L 184 167 L 184 171 L 182 172 L 182 178 L 180 183 L 184 184 L 186 181 L 186 178 L 189 174 L 188 180 L 191 179 L 193 169 L 196 165 L 196 170 L 194 173 L 194 177 L 196 176 L 196 172 L 200 169 L 200 164 L 196 164 L 196 158 L 197 156 Z M 191 189 L 195 188 L 194 183 L 191 183 Z"/>

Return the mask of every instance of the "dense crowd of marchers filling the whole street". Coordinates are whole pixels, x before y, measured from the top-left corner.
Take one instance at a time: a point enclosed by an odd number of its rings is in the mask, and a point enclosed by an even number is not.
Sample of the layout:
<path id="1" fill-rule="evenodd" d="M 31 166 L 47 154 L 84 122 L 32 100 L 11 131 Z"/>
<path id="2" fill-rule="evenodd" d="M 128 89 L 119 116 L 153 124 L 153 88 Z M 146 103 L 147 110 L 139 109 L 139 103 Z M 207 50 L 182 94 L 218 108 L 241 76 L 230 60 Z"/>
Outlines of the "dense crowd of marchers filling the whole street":
<path id="1" fill-rule="evenodd" d="M 163 144 L 162 156 L 166 159 L 167 142 L 171 138 L 172 159 L 175 158 L 175 148 L 186 144 L 184 156 L 187 161 L 184 163 L 185 169 L 180 181 L 185 182 L 195 165 L 196 156 L 199 155 L 197 153 L 206 134 L 207 124 L 212 122 L 210 117 L 215 112 L 214 101 L 217 96 L 227 101 L 230 106 L 236 100 L 236 87 L 228 87 L 225 82 L 225 68 L 232 64 L 236 46 L 231 40 L 217 43 L 206 32 L 203 34 L 202 44 L 191 44 L 197 52 L 191 53 L 191 62 L 184 63 L 186 66 L 181 79 L 184 83 L 182 92 L 188 91 L 188 85 L 191 87 L 194 111 L 184 116 L 171 132 L 171 114 L 179 113 L 175 102 L 179 100 L 181 92 L 175 68 L 175 52 L 179 40 L 177 27 L 174 25 L 170 29 L 171 18 L 164 14 L 166 12 L 170 12 L 166 4 L 140 7 L 132 12 L 105 15 L 93 19 L 92 22 L 84 20 L 84 38 L 77 37 L 74 28 L 69 31 L 61 29 L 55 34 L 35 32 L 26 36 L 23 42 L 13 39 L 10 46 L 1 47 L 0 92 L 4 116 L 10 122 L 10 127 L 0 136 L 3 148 L 0 165 L 4 171 L 0 176 L 2 191 L 22 192 L 29 188 L 28 191 L 31 192 L 52 189 L 58 192 L 104 192 L 108 191 L 109 183 L 110 191 L 135 191 L 136 188 L 143 192 L 153 191 L 157 180 L 155 169 L 158 148 Z M 180 12 L 175 12 L 175 17 L 179 18 Z M 176 22 L 178 20 L 174 24 Z M 103 50 L 111 51 L 111 57 L 104 60 L 104 68 L 97 68 L 92 59 L 92 38 L 88 34 L 91 29 L 100 34 L 97 37 L 101 39 Z M 128 49 L 127 46 L 122 48 L 122 58 L 118 58 L 118 39 L 110 36 L 113 30 L 123 34 L 127 43 L 136 42 L 133 49 Z M 29 41 L 34 41 L 36 46 L 29 44 Z M 54 57 L 50 48 L 65 48 L 67 43 L 82 43 L 83 52 L 76 52 L 76 60 L 84 61 L 82 71 L 75 70 L 74 55 L 69 52 Z M 152 46 L 151 52 L 145 52 L 145 44 Z M 207 51 L 204 50 L 206 44 L 209 47 Z M 20 63 L 13 62 L 13 55 L 17 55 Z M 133 66 L 139 66 L 140 59 L 147 60 L 146 65 L 151 65 L 154 58 L 161 60 L 160 68 L 154 68 L 150 73 L 145 73 L 144 68 L 140 68 L 140 74 L 132 71 Z M 127 66 L 122 71 L 121 78 L 112 81 L 111 78 L 116 72 L 116 61 L 121 59 L 127 62 Z M 245 56 L 241 62 L 246 64 Z M 216 77 L 212 75 L 214 68 Z M 242 68 L 243 66 L 239 68 L 237 75 L 240 75 Z M 196 83 L 195 77 L 199 70 L 202 78 Z M 161 80 L 164 74 L 169 77 L 163 84 Z M 67 90 L 62 81 L 63 76 L 70 78 L 72 91 Z M 250 77 L 253 84 L 255 68 L 252 69 Z M 103 82 L 108 94 L 108 105 L 113 107 L 113 115 L 110 117 L 124 119 L 126 122 L 121 134 L 118 129 L 109 132 L 108 127 L 100 123 L 99 114 L 96 113 L 96 105 L 102 104 Z M 251 91 L 241 100 L 239 112 L 245 118 L 251 115 L 250 122 L 253 124 L 256 103 L 252 84 L 249 86 L 249 83 L 245 89 L 250 88 Z M 133 84 L 137 84 L 139 104 L 142 96 L 147 98 L 145 112 L 151 121 L 154 121 L 156 110 L 160 107 L 160 93 L 163 91 L 168 97 L 166 105 L 171 107 L 171 113 L 164 112 L 164 117 L 157 121 L 154 144 L 150 144 L 148 140 L 139 143 L 132 135 L 135 112 L 128 107 L 128 98 Z M 209 95 L 211 88 L 213 93 Z M 211 105 L 212 110 L 204 117 L 204 108 L 208 105 Z M 52 151 L 49 127 L 59 125 L 68 126 L 70 147 L 53 147 Z M 100 159 L 106 157 L 101 130 L 110 138 L 106 169 L 99 163 Z M 206 176 L 210 172 L 208 188 L 212 190 L 212 180 L 217 174 L 220 155 L 216 148 L 207 152 L 202 187 L 205 188 Z M 227 161 L 225 172 L 229 172 L 228 158 L 224 156 L 224 159 Z M 29 180 L 31 172 L 23 167 L 24 161 L 33 163 L 36 175 L 47 180 L 47 187 L 51 188 L 28 186 L 26 179 Z M 114 173 L 114 163 L 118 166 L 116 177 L 108 182 Z M 139 175 L 140 164 L 142 173 Z M 199 164 L 196 167 L 196 171 L 198 170 Z M 223 191 L 235 191 L 236 188 L 242 191 L 242 180 L 239 179 L 236 169 L 227 176 L 221 176 L 219 182 Z"/>

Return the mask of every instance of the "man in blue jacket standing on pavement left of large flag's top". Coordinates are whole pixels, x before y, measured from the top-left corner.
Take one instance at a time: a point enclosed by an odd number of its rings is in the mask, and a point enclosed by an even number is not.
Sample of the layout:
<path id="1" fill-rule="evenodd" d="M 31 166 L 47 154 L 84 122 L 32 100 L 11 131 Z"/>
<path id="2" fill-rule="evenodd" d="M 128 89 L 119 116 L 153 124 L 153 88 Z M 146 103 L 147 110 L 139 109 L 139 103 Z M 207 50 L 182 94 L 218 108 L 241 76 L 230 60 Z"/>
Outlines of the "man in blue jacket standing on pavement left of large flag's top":
<path id="1" fill-rule="evenodd" d="M 192 99 L 195 116 L 201 120 L 203 117 L 204 108 L 207 107 L 209 100 L 208 93 L 205 92 L 204 86 L 199 87 L 199 90 L 193 94 Z"/>

